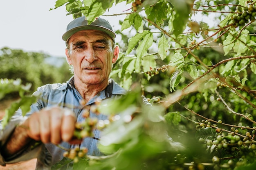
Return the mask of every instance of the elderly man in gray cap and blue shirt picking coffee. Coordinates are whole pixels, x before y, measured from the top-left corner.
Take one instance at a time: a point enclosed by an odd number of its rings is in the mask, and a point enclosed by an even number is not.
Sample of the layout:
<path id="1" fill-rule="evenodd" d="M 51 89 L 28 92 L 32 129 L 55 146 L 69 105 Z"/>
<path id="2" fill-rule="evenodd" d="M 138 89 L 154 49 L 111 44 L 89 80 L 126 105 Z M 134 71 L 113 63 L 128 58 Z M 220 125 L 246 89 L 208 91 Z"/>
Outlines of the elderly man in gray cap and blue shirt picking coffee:
<path id="1" fill-rule="evenodd" d="M 115 45 L 115 32 L 108 21 L 97 18 L 88 25 L 85 17 L 70 22 L 62 39 L 66 42 L 66 56 L 72 65 L 74 76 L 67 83 L 48 84 L 39 87 L 40 94 L 31 106 L 31 113 L 24 118 L 16 116 L 0 134 L 0 164 L 14 163 L 37 157 L 37 169 L 49 169 L 63 159 L 65 148 L 72 144 L 75 123 L 85 120 L 80 102 L 90 107 L 98 98 L 108 100 L 126 94 L 109 74 L 118 59 L 119 47 Z M 105 120 L 106 116 L 90 111 L 90 117 Z M 17 126 L 18 125 L 18 126 Z M 87 147 L 89 155 L 101 155 L 97 149 L 100 132 L 81 141 L 79 147 Z M 37 141 L 43 142 L 35 146 Z M 31 147 L 35 146 L 35 147 Z M 63 169 L 72 169 L 66 165 Z"/>

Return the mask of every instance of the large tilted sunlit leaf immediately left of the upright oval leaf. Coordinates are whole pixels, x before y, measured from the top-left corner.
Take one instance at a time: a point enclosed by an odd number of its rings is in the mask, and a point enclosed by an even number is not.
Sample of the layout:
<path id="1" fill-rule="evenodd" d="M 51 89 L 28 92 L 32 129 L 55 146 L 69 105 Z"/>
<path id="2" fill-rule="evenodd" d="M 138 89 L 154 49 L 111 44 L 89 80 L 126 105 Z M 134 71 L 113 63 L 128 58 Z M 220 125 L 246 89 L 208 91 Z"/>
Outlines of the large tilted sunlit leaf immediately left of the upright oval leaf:
<path id="1" fill-rule="evenodd" d="M 145 54 L 147 54 L 148 48 L 150 48 L 152 44 L 153 44 L 153 33 L 148 33 L 143 37 L 142 41 L 139 42 L 139 46 L 136 49 L 137 58 L 138 57 L 140 58 Z"/>

